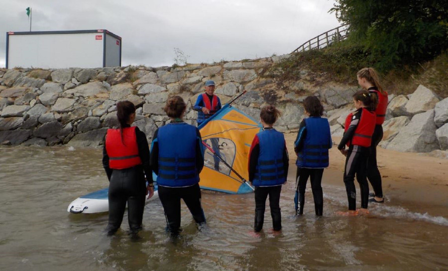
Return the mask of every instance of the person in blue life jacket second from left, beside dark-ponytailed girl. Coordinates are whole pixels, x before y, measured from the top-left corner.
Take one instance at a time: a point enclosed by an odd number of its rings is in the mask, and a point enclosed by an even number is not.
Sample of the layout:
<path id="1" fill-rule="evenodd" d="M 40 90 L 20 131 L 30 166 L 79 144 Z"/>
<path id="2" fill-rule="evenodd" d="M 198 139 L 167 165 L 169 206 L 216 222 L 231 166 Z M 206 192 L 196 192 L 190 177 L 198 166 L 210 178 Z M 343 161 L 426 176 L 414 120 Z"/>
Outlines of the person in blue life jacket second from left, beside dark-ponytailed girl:
<path id="1" fill-rule="evenodd" d="M 151 144 L 151 167 L 157 174 L 167 231 L 172 234 L 180 230 L 181 199 L 198 225 L 206 223 L 199 188 L 204 149 L 198 128 L 182 120 L 185 109 L 180 96 L 167 100 L 164 110 L 171 121 L 154 133 Z"/>

